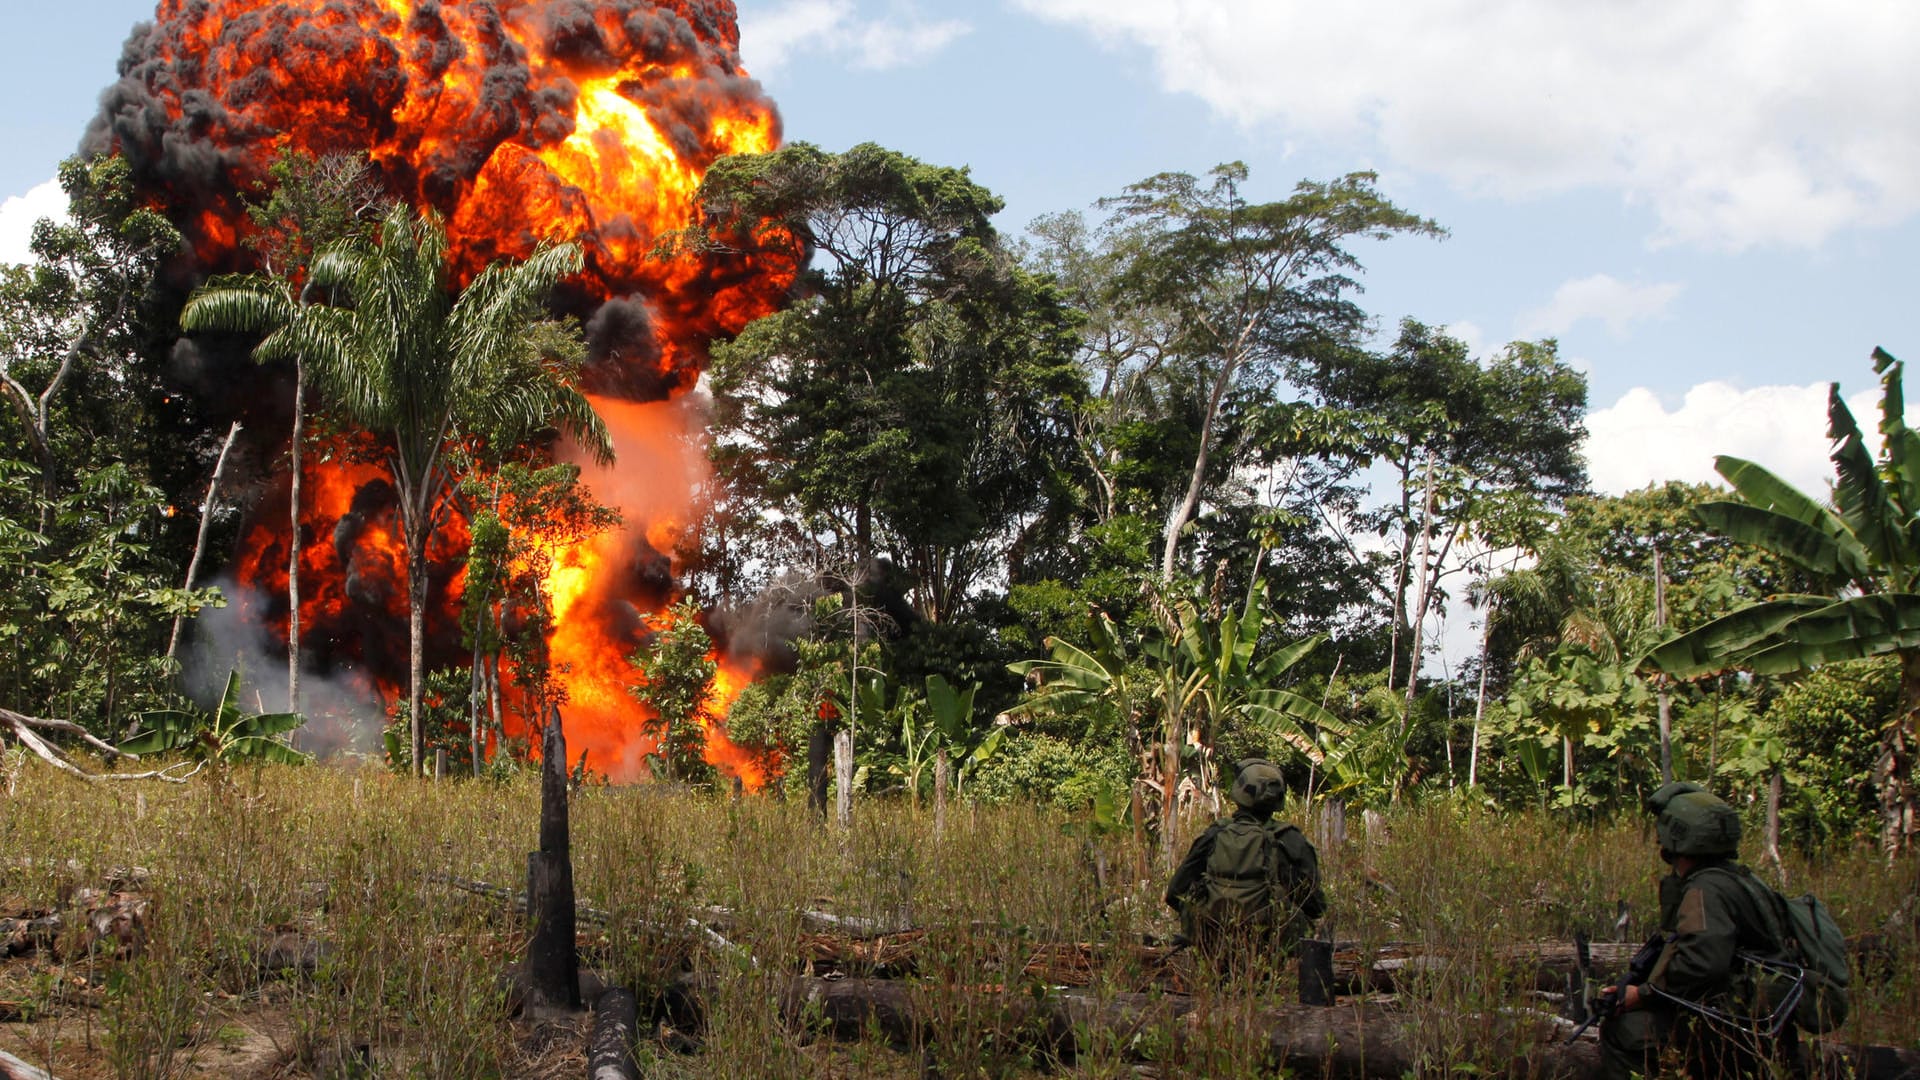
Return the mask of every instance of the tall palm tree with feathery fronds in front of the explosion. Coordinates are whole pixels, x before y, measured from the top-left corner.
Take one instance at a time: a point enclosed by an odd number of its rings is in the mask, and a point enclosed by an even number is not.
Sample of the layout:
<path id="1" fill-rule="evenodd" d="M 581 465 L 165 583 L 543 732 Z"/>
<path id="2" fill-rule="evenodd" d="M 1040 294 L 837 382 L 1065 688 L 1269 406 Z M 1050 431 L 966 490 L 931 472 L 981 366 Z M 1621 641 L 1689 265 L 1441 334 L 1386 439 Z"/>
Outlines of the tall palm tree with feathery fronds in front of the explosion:
<path id="1" fill-rule="evenodd" d="M 372 240 L 313 261 L 313 282 L 340 306 L 307 311 L 319 380 L 349 421 L 388 448 L 407 550 L 407 709 L 413 769 L 424 769 L 420 688 L 426 640 L 426 542 L 445 521 L 451 442 L 507 446 L 566 429 L 601 463 L 612 440 L 572 375 L 584 356 L 574 323 L 547 315 L 553 286 L 582 267 L 574 244 L 493 263 L 465 290 L 447 267 L 432 211 L 396 206 Z"/>

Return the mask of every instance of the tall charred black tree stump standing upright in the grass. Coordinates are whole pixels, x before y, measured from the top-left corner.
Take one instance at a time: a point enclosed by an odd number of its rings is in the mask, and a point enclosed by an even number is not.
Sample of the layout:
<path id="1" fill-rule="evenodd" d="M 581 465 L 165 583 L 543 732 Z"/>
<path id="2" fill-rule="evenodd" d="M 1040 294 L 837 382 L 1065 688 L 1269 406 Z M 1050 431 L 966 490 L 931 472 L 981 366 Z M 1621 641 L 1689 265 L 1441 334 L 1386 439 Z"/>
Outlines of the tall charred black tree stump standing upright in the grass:
<path id="1" fill-rule="evenodd" d="M 574 942 L 574 859 L 566 828 L 566 732 L 549 709 L 540 738 L 540 851 L 526 855 L 526 1005 L 580 1009 L 580 947 Z"/>

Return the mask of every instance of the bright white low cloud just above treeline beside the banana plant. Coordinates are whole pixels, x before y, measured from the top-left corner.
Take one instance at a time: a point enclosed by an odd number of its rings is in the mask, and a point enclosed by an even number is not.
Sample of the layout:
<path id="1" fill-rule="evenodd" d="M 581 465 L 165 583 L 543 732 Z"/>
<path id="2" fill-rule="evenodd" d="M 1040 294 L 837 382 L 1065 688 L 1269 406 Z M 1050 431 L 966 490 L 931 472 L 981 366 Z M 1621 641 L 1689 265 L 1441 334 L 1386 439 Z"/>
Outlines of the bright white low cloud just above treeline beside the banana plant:
<path id="1" fill-rule="evenodd" d="M 1718 484 L 1718 454 L 1766 467 L 1799 490 L 1826 494 L 1834 477 L 1828 459 L 1824 382 L 1812 386 L 1755 386 L 1701 382 L 1680 407 L 1647 388 L 1634 388 L 1586 417 L 1586 461 L 1594 490 L 1624 494 L 1647 484 L 1684 480 Z M 1880 390 L 1847 398 L 1868 444 L 1878 452 Z"/>

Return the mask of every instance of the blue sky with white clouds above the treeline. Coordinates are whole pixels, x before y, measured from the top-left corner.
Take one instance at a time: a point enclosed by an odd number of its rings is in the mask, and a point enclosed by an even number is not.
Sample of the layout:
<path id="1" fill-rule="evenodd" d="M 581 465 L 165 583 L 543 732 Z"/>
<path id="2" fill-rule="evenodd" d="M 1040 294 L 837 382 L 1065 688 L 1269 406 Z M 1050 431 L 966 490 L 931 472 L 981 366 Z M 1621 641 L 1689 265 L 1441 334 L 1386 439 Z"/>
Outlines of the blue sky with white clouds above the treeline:
<path id="1" fill-rule="evenodd" d="M 10 4 L 0 258 L 152 0 Z M 970 165 L 1006 233 L 1242 160 L 1375 169 L 1452 231 L 1363 250 L 1363 304 L 1492 350 L 1557 336 L 1596 486 L 1732 452 L 1816 486 L 1824 384 L 1920 357 L 1920 6 L 1834 0 L 743 0 L 789 138 Z"/>

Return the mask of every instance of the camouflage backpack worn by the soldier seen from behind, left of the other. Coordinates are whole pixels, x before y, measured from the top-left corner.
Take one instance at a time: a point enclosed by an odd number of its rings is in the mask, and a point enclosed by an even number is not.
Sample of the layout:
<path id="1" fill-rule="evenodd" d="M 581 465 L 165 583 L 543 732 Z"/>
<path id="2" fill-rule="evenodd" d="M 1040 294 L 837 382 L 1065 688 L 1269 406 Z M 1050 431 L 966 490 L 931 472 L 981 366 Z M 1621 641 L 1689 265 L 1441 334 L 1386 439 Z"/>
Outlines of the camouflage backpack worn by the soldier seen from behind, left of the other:
<path id="1" fill-rule="evenodd" d="M 1200 915 L 1212 926 L 1271 930 L 1294 928 L 1294 905 L 1313 886 L 1313 847 L 1292 824 L 1279 828 L 1233 817 L 1213 836 L 1206 861 L 1206 897 Z M 1311 907 L 1317 907 L 1311 905 Z M 1319 911 L 1308 911 L 1313 919 Z M 1304 930 L 1304 922 L 1298 926 Z M 1298 932 L 1283 932 L 1283 944 Z"/>

